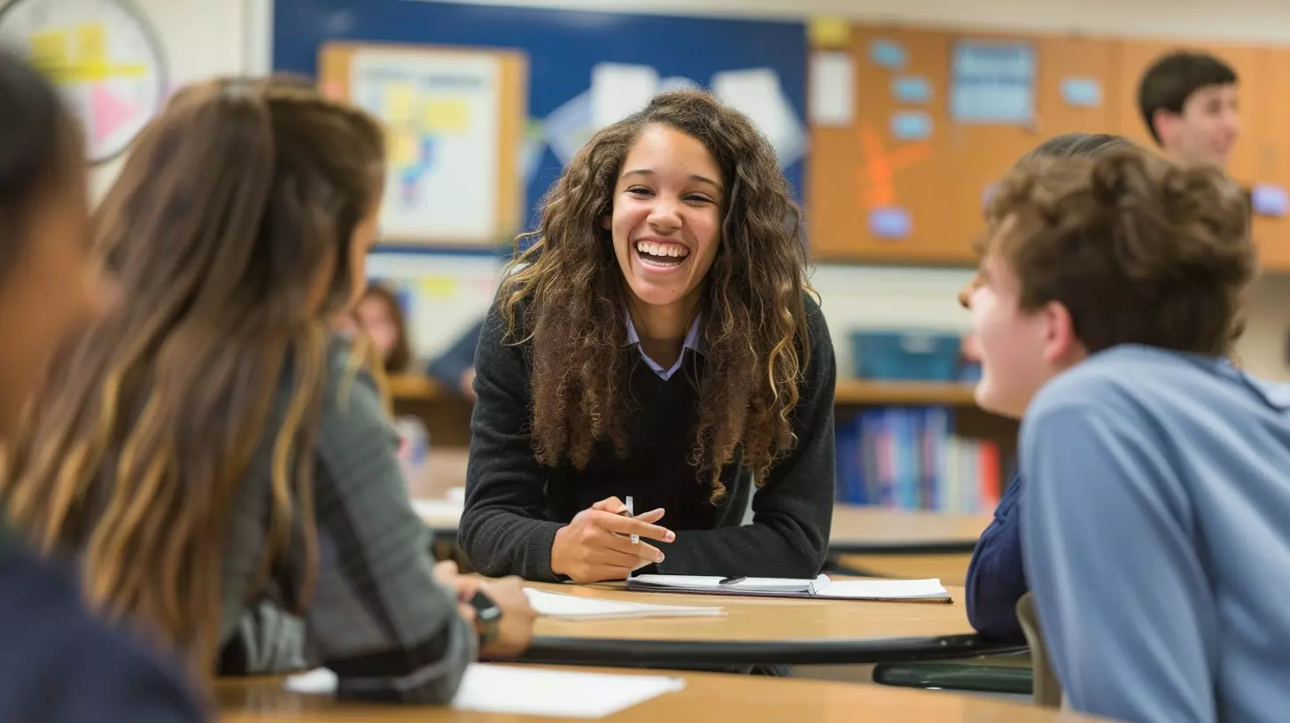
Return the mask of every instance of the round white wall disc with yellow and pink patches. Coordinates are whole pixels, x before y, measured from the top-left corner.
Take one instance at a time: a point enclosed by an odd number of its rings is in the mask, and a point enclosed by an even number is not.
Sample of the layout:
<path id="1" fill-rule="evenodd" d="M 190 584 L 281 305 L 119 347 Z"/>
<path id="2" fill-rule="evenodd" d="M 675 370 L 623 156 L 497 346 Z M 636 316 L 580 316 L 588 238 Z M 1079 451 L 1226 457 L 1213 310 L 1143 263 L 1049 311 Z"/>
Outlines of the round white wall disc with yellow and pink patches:
<path id="1" fill-rule="evenodd" d="M 92 164 L 125 152 L 165 102 L 161 43 L 126 0 L 0 3 L 0 44 L 58 85 L 81 121 Z"/>

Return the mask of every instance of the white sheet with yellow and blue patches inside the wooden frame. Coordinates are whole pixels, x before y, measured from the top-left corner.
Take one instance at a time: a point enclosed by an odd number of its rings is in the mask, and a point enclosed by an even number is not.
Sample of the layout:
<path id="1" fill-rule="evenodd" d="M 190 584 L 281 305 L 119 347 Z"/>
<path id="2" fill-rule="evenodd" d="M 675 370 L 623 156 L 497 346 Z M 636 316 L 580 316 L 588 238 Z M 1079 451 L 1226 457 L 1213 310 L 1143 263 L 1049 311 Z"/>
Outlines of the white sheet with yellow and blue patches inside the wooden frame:
<path id="1" fill-rule="evenodd" d="M 350 98 L 386 124 L 382 238 L 497 241 L 501 74 L 480 53 L 353 52 Z"/>

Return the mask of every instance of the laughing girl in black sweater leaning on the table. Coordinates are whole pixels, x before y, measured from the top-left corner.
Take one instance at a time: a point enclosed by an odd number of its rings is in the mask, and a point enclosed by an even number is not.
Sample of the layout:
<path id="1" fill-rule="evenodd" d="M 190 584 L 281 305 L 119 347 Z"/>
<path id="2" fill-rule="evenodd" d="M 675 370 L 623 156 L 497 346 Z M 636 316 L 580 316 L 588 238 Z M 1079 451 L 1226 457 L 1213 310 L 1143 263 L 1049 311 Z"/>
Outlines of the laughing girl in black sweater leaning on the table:
<path id="1" fill-rule="evenodd" d="M 765 138 L 707 94 L 660 94 L 578 152 L 537 235 L 476 356 L 471 564 L 578 582 L 819 573 L 833 347 Z"/>

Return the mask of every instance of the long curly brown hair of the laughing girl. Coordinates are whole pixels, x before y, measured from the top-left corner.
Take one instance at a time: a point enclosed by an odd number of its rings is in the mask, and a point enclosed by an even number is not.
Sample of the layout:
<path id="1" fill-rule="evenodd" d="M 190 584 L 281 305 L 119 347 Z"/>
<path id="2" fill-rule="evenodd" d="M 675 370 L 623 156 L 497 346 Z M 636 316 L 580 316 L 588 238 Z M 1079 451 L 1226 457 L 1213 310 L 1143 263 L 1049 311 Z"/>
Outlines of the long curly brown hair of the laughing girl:
<path id="1" fill-rule="evenodd" d="M 729 188 L 721 241 L 704 280 L 703 372 L 690 462 L 721 500 L 721 470 L 742 452 L 759 484 L 796 443 L 789 414 L 810 364 L 801 208 L 775 151 L 740 112 L 707 93 L 657 96 L 601 132 L 573 158 L 543 199 L 535 239 L 508 267 L 499 311 L 508 342 L 531 342 L 533 427 L 538 460 L 584 469 L 597 442 L 624 456 L 636 408 L 628 378 L 637 352 L 624 343 L 626 280 L 602 221 L 613 213 L 622 163 L 649 127 L 702 142 Z"/>

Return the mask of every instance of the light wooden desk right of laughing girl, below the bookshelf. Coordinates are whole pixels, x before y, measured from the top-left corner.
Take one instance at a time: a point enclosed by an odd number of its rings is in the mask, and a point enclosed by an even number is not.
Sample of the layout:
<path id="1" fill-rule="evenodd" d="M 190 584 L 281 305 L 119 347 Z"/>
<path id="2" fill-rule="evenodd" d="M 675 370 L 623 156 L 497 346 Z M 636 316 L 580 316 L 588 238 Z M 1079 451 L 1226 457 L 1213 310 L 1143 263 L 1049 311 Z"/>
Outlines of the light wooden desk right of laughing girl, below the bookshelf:
<path id="1" fill-rule="evenodd" d="M 991 519 L 837 505 L 828 551 L 833 555 L 971 553 Z"/>

